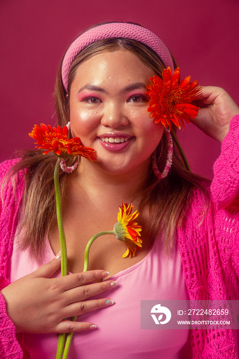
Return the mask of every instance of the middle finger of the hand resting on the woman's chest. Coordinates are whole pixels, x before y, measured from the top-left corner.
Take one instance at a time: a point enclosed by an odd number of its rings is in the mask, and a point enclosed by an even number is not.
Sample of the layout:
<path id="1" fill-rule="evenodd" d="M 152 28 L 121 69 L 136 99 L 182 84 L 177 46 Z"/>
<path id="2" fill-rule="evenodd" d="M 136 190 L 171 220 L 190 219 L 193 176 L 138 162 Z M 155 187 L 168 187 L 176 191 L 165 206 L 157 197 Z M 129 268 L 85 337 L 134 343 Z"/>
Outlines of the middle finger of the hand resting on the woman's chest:
<path id="1" fill-rule="evenodd" d="M 64 293 L 64 303 L 65 305 L 68 305 L 74 302 L 83 301 L 91 296 L 113 289 L 117 285 L 118 283 L 115 281 L 106 281 L 69 289 Z"/>

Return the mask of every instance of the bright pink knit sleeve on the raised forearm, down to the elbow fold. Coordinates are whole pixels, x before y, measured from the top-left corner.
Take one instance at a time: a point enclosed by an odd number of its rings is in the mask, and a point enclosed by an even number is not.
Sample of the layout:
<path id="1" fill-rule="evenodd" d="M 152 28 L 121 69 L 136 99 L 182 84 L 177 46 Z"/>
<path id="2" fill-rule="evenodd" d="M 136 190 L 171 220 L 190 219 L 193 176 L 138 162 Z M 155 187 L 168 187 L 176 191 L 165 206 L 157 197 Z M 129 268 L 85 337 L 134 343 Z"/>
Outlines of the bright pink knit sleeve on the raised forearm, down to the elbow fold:
<path id="1" fill-rule="evenodd" d="M 225 207 L 233 202 L 239 188 L 239 115 L 231 120 L 213 171 L 212 199 L 218 207 Z"/>

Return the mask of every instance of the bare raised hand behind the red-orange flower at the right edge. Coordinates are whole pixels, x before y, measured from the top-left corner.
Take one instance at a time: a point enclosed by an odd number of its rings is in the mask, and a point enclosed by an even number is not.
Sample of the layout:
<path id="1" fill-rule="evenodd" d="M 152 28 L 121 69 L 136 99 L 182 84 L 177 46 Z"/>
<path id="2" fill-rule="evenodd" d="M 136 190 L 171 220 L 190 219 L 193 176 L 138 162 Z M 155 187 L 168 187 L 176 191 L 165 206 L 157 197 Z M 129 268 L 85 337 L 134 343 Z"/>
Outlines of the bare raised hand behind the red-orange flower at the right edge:
<path id="1" fill-rule="evenodd" d="M 190 122 L 222 143 L 232 117 L 239 114 L 239 107 L 231 96 L 221 87 L 205 86 L 202 95 L 193 104 L 201 109 Z"/>

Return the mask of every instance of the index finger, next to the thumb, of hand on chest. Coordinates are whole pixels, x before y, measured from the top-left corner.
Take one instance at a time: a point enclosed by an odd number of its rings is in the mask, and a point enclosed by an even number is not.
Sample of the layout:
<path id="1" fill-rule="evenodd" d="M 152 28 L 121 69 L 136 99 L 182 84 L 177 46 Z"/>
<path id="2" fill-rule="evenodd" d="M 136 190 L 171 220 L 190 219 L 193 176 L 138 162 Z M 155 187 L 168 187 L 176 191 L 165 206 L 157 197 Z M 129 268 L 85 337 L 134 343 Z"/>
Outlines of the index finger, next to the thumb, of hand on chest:
<path id="1" fill-rule="evenodd" d="M 72 289 L 85 285 L 87 283 L 95 282 L 99 279 L 105 278 L 110 273 L 104 270 L 89 270 L 82 273 L 74 273 L 61 278 L 62 285 L 65 290 Z"/>

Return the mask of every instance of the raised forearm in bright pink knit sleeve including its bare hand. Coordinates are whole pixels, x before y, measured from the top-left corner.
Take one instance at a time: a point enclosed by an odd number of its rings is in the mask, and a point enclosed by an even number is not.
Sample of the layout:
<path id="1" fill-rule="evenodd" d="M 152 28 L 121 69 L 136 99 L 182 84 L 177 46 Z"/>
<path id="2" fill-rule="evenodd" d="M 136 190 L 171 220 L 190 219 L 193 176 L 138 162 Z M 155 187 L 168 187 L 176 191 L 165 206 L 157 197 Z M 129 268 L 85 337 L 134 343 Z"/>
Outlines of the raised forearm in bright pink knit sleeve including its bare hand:
<path id="1" fill-rule="evenodd" d="M 196 105 L 201 109 L 190 121 L 222 143 L 213 167 L 211 193 L 213 201 L 224 206 L 235 198 L 239 187 L 239 107 L 225 90 L 213 86 L 203 87 Z"/>

